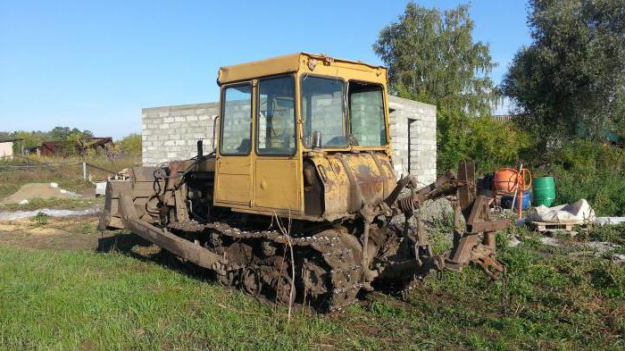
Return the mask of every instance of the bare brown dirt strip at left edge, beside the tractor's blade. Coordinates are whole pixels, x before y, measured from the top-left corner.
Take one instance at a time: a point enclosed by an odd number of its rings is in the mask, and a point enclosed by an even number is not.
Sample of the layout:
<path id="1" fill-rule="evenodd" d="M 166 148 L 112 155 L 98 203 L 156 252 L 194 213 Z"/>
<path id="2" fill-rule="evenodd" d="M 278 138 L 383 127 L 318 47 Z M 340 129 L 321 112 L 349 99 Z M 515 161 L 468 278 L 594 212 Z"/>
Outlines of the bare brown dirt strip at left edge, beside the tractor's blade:
<path id="1" fill-rule="evenodd" d="M 93 230 L 97 216 L 50 218 L 45 226 L 33 221 L 16 220 L 0 223 L 0 245 L 54 250 L 96 250 L 100 240 L 112 233 Z"/>

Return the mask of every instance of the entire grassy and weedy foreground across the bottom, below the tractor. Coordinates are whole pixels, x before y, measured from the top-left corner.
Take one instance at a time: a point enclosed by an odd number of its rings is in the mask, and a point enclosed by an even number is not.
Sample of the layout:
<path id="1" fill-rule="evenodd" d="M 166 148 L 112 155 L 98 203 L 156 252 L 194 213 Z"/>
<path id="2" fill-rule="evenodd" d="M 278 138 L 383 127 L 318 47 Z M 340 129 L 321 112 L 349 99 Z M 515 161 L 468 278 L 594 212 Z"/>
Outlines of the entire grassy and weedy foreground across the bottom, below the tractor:
<path id="1" fill-rule="evenodd" d="M 0 349 L 625 347 L 625 268 L 517 234 L 519 247 L 500 247 L 507 285 L 474 268 L 430 275 L 404 299 L 374 293 L 290 324 L 284 309 L 158 260 L 0 247 Z"/>

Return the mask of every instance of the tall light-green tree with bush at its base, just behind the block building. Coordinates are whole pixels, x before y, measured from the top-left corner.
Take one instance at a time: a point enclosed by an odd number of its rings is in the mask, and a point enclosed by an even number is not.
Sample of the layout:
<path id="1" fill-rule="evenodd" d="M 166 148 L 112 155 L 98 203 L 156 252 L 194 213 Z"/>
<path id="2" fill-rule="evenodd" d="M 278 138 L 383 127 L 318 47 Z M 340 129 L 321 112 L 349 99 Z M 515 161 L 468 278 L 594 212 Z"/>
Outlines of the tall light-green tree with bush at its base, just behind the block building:
<path id="1" fill-rule="evenodd" d="M 467 5 L 441 12 L 411 2 L 373 45 L 387 65 L 391 93 L 437 105 L 439 171 L 455 169 L 466 158 L 485 167 L 514 161 L 527 146 L 521 131 L 486 118 L 499 102 L 488 77 L 496 63 L 487 44 L 473 41 L 472 30 Z"/>

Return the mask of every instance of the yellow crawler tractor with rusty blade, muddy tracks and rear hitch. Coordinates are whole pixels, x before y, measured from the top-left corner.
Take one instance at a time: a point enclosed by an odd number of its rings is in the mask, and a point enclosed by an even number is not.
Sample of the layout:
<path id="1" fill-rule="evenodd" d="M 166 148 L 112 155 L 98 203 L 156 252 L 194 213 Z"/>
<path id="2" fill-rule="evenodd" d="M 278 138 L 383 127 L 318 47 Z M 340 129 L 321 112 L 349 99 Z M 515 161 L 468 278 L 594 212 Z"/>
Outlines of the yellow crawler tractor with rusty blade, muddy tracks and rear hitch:
<path id="1" fill-rule="evenodd" d="M 199 140 L 190 160 L 109 182 L 101 229 L 132 230 L 226 286 L 320 312 L 469 263 L 504 273 L 495 231 L 509 221 L 491 220 L 476 196 L 473 163 L 424 188 L 397 180 L 385 68 L 290 54 L 222 67 L 217 83 L 210 152 Z M 418 219 L 440 196 L 453 204 L 454 247 L 434 255 Z"/>

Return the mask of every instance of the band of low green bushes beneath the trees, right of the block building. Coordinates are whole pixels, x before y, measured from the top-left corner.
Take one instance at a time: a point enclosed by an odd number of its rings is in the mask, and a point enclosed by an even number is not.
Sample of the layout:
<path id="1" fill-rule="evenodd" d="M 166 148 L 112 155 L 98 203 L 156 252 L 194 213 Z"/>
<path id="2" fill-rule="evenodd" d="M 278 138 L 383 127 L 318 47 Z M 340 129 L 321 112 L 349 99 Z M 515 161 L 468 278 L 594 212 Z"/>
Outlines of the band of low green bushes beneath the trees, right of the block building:
<path id="1" fill-rule="evenodd" d="M 625 150 L 578 138 L 537 152 L 537 136 L 515 123 L 439 112 L 438 170 L 455 170 L 475 160 L 479 174 L 523 161 L 534 177 L 554 176 L 554 205 L 587 199 L 598 216 L 625 215 Z"/>

